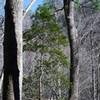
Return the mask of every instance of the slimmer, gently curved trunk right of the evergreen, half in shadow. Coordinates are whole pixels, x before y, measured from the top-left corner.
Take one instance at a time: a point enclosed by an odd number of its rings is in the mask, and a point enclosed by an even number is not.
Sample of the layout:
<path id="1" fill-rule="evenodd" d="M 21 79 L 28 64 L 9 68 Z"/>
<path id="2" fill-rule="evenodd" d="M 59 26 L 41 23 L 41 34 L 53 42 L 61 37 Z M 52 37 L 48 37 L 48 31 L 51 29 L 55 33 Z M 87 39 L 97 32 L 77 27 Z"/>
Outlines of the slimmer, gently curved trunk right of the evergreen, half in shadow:
<path id="1" fill-rule="evenodd" d="M 73 94 L 74 94 L 74 99 L 72 100 L 78 100 L 79 67 L 77 66 L 78 62 L 75 61 L 76 51 L 78 50 L 77 48 L 78 35 L 74 23 L 74 0 L 63 0 L 63 2 L 64 2 L 64 13 L 67 24 L 68 38 L 70 43 L 70 60 L 71 60 L 70 82 L 73 85 L 73 86 L 70 85 L 69 100 L 73 98 L 72 96 Z"/>

